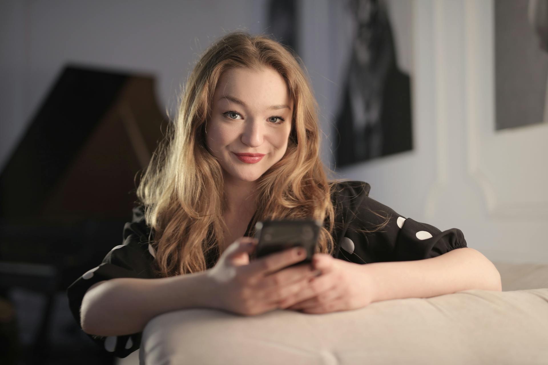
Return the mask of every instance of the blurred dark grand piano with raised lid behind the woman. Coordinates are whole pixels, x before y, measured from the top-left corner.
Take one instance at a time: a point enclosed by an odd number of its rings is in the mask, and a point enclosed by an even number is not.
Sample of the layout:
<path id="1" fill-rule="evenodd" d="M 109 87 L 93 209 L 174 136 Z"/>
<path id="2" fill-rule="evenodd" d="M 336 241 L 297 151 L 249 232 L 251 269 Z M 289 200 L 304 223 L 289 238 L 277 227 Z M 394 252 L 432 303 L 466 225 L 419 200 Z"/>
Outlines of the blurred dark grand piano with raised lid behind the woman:
<path id="1" fill-rule="evenodd" d="M 54 294 L 122 244 L 139 172 L 168 119 L 151 76 L 68 66 L 0 175 L 0 288 L 48 298 L 34 346 L 48 351 Z"/>

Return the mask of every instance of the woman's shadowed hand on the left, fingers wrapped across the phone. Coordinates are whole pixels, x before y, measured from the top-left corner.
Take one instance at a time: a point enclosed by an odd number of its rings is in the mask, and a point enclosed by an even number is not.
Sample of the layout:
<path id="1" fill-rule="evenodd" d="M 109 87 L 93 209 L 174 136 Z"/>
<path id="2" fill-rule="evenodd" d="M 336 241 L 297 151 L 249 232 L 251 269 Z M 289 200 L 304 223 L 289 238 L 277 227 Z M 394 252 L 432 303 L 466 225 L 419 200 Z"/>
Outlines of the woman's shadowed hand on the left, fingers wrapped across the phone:
<path id="1" fill-rule="evenodd" d="M 214 308 L 249 316 L 279 309 L 283 299 L 301 291 L 317 275 L 310 264 L 286 268 L 306 257 L 295 248 L 249 262 L 256 244 L 253 237 L 240 237 L 207 270 L 215 290 Z"/>

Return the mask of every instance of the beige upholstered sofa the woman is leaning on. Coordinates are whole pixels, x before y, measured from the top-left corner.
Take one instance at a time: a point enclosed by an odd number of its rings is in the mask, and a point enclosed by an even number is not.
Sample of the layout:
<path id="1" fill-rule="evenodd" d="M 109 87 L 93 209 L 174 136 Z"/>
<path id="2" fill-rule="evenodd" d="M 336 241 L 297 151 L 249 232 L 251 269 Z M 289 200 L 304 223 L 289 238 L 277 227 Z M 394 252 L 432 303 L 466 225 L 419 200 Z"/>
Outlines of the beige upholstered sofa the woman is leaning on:
<path id="1" fill-rule="evenodd" d="M 494 263 L 503 292 L 467 290 L 323 315 L 169 312 L 119 364 L 548 364 L 548 264 Z"/>

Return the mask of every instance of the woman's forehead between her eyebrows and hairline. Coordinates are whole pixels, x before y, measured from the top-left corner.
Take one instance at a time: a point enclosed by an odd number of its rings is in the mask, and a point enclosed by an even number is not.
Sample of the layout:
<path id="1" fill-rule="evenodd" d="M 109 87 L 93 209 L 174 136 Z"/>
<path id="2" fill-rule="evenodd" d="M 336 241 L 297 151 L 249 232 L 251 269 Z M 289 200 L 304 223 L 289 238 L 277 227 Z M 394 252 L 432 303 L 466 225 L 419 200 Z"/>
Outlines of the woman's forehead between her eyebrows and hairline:
<path id="1" fill-rule="evenodd" d="M 224 96 L 236 97 L 255 107 L 282 103 L 292 105 L 286 81 L 270 67 L 228 69 L 216 86 L 214 102 L 229 102 Z"/>

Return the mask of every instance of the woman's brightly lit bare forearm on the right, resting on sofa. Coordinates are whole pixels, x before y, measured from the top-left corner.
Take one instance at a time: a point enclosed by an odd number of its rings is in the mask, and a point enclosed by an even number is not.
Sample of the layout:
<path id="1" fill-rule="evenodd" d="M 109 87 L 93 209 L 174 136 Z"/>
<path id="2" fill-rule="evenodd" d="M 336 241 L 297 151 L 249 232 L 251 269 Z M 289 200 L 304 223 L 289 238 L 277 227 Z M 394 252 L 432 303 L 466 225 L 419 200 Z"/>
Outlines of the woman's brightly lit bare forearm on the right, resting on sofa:
<path id="1" fill-rule="evenodd" d="M 373 302 L 398 298 L 430 298 L 467 289 L 501 291 L 492 262 L 472 248 L 414 261 L 362 265 L 373 281 Z"/>

